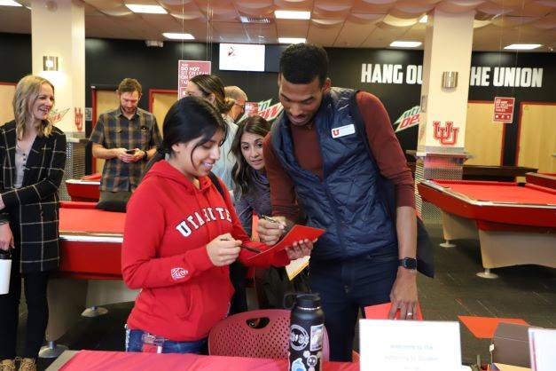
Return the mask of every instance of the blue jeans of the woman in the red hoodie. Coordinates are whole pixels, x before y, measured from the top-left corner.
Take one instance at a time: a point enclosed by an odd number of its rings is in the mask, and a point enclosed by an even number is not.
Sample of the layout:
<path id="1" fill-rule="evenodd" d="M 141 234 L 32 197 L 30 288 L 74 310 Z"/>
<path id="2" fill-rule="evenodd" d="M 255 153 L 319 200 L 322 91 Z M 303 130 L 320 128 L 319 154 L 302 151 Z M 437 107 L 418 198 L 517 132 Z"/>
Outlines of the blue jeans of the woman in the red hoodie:
<path id="1" fill-rule="evenodd" d="M 145 344 L 145 335 L 148 336 L 150 334 L 143 330 L 126 329 L 126 351 L 143 352 L 145 348 L 149 348 L 153 352 L 161 353 L 206 353 L 207 338 L 196 342 L 174 342 L 161 336 L 156 336 L 153 344 Z M 160 349 L 157 349 L 157 344 L 161 345 Z"/>

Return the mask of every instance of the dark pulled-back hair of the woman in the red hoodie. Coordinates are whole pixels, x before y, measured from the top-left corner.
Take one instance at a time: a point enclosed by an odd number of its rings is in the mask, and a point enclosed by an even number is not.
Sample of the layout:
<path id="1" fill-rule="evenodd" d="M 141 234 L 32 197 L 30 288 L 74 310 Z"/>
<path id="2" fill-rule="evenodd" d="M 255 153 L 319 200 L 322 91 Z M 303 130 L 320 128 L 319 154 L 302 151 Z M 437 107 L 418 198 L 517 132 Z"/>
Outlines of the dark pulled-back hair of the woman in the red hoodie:
<path id="1" fill-rule="evenodd" d="M 215 107 L 207 100 L 197 97 L 179 99 L 170 107 L 164 117 L 162 145 L 157 148 L 156 154 L 147 163 L 143 175 L 145 176 L 155 162 L 164 159 L 165 154 L 172 154 L 173 145 L 187 143 L 192 139 L 202 137 L 202 140 L 195 146 L 197 148 L 207 143 L 218 130 L 223 131 L 222 141 L 224 141 L 228 135 L 228 125 L 223 121 L 222 115 L 216 112 Z"/>

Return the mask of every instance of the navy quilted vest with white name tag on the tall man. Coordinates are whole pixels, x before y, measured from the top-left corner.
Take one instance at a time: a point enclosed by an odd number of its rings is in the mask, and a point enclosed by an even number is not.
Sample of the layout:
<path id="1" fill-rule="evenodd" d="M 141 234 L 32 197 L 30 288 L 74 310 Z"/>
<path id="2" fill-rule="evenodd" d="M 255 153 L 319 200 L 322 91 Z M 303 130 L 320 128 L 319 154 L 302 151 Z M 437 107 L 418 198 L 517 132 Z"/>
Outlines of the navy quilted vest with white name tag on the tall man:
<path id="1" fill-rule="evenodd" d="M 326 231 L 311 259 L 346 260 L 397 251 L 394 225 L 379 194 L 379 170 L 349 114 L 349 100 L 355 93 L 332 88 L 315 117 L 323 180 L 301 169 L 295 160 L 287 115 L 281 114 L 272 125 L 272 148 L 294 181 L 298 201 L 309 218 L 307 225 Z"/>

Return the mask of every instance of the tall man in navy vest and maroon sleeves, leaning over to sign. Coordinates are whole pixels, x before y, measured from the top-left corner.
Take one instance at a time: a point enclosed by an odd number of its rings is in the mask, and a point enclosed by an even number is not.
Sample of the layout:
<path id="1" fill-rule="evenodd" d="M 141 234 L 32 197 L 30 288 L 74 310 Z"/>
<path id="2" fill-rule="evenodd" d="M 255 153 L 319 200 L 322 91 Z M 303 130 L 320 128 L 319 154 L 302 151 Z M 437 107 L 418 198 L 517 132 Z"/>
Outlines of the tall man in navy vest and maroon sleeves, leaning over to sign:
<path id="1" fill-rule="evenodd" d="M 309 286 L 322 297 L 331 360 L 349 361 L 360 308 L 392 302 L 412 320 L 417 306 L 417 228 L 411 170 L 380 100 L 332 88 L 326 51 L 291 45 L 280 57 L 284 113 L 264 140 L 273 218 L 259 219 L 261 241 L 274 244 L 298 215 L 326 230 L 310 258 Z M 370 158 L 349 100 L 356 94 Z M 380 175 L 395 185 L 395 221 L 379 191 Z M 397 233 L 397 242 L 396 242 Z"/>

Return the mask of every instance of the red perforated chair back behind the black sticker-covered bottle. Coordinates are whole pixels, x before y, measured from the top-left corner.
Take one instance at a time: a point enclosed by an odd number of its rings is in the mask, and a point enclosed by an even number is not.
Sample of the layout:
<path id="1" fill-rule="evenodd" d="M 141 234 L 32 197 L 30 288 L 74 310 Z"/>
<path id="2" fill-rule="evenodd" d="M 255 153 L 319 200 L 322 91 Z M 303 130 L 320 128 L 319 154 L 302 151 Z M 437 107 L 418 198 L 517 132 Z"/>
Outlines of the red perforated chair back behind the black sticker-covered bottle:
<path id="1" fill-rule="evenodd" d="M 260 324 L 261 326 L 253 325 Z M 208 353 L 218 356 L 287 359 L 290 311 L 263 309 L 234 314 L 218 322 L 208 334 Z M 323 336 L 323 360 L 330 357 L 328 335 Z"/>

